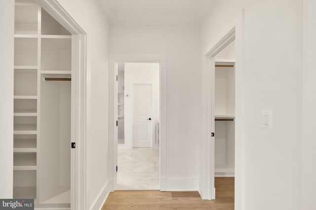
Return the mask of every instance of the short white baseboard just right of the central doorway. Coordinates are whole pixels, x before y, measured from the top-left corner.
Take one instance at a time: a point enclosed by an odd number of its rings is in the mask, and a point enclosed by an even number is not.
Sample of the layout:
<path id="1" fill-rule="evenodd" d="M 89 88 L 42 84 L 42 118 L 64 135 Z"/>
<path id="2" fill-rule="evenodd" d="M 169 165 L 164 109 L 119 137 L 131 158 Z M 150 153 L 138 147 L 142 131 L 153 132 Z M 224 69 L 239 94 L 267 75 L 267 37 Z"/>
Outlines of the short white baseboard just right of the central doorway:
<path id="1" fill-rule="evenodd" d="M 167 191 L 198 191 L 198 178 L 167 178 Z"/>

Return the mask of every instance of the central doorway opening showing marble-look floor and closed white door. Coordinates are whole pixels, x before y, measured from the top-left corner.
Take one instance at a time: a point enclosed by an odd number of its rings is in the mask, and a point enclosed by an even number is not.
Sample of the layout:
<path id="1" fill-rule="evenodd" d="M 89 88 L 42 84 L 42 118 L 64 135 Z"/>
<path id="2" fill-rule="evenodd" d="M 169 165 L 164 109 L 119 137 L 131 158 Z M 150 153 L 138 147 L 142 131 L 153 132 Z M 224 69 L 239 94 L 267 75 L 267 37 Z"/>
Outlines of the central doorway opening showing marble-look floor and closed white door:
<path id="1" fill-rule="evenodd" d="M 159 63 L 117 62 L 115 190 L 159 187 Z"/>

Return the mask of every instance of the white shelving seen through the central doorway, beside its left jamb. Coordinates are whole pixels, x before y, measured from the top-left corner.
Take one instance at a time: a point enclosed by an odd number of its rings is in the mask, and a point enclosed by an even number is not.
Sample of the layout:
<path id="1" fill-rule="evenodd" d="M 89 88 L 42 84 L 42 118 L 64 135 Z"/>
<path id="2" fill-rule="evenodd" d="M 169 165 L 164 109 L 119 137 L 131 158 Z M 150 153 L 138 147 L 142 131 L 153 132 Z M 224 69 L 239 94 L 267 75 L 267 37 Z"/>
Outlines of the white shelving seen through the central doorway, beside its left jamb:
<path id="1" fill-rule="evenodd" d="M 124 143 L 124 63 L 118 63 L 118 144 Z"/>

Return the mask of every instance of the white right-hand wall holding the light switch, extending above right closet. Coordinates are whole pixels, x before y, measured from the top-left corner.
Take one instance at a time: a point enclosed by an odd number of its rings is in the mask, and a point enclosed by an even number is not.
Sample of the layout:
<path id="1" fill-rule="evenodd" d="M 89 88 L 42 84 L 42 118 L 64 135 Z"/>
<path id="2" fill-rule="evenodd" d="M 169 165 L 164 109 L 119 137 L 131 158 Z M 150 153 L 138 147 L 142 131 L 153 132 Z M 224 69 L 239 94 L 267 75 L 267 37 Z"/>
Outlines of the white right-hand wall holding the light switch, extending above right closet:
<path id="1" fill-rule="evenodd" d="M 201 26 L 202 56 L 237 31 L 236 210 L 301 208 L 302 15 L 301 0 L 217 0 Z"/>

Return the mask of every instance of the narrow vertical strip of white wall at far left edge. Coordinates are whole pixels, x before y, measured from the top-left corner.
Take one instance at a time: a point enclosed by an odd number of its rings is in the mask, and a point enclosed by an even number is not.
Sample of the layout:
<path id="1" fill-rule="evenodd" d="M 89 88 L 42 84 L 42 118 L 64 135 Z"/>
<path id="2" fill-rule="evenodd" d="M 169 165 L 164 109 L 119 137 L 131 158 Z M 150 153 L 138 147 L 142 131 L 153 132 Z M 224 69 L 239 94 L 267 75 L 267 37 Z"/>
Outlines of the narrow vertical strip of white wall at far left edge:
<path id="1" fill-rule="evenodd" d="M 0 198 L 13 196 L 14 1 L 0 1 Z"/>

